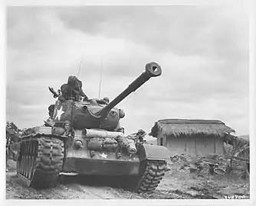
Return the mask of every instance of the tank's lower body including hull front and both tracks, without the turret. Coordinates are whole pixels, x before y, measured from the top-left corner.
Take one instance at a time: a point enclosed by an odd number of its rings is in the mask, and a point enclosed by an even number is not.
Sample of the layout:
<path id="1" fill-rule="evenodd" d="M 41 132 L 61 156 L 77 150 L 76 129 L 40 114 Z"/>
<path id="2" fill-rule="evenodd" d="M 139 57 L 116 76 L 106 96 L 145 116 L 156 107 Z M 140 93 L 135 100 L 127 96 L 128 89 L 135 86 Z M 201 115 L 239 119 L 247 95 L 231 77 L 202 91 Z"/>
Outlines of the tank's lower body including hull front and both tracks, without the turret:
<path id="1" fill-rule="evenodd" d="M 113 146 L 112 132 L 105 131 L 106 138 L 103 130 L 87 130 L 87 135 L 76 130 L 74 138 L 51 134 L 51 127 L 38 127 L 36 132 L 21 138 L 17 161 L 18 175 L 33 188 L 54 187 L 61 173 L 76 173 L 123 176 L 134 192 L 151 193 L 165 174 L 169 155 L 164 147 L 140 145 L 136 153 L 129 153 L 127 148 Z M 112 146 L 99 146 L 102 139 L 100 144 Z"/>

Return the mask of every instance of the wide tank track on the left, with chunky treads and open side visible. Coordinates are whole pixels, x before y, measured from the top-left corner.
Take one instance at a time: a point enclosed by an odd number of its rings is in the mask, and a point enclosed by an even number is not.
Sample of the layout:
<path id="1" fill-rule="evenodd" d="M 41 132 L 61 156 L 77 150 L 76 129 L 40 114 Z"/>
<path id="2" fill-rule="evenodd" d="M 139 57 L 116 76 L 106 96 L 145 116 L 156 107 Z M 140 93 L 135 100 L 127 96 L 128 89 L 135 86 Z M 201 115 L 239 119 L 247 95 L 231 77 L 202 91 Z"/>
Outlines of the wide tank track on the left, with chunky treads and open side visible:
<path id="1" fill-rule="evenodd" d="M 21 140 L 17 173 L 28 186 L 56 185 L 64 159 L 64 143 L 54 137 L 28 137 Z"/>

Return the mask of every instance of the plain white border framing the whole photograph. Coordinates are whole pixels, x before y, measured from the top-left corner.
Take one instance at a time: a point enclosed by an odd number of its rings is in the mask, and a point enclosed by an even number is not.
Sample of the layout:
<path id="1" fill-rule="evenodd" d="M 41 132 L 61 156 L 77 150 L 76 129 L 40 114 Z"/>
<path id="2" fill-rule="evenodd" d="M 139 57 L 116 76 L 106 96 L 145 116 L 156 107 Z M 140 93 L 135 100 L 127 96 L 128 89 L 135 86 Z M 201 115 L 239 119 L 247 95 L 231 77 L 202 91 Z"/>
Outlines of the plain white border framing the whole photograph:
<path id="1" fill-rule="evenodd" d="M 1 121 L 2 121 L 2 141 L 4 141 L 5 137 L 5 43 L 6 43 L 6 36 L 5 36 L 5 7 L 6 6 L 29 6 L 29 5 L 38 5 L 38 6 L 72 6 L 72 5 L 216 5 L 216 4 L 233 4 L 243 2 L 246 4 L 248 8 L 250 8 L 251 12 L 251 22 L 250 22 L 250 156 L 251 156 L 251 171 L 255 171 L 255 3 L 254 1 L 38 1 L 38 0 L 30 0 L 30 1 L 14 1 L 9 0 L 6 2 L 6 5 L 1 5 L 0 15 L 1 15 L 1 66 L 2 66 L 2 75 L 1 75 L 1 94 L 2 94 L 2 107 L 1 107 Z M 2 175 L 1 181 L 2 185 L 5 185 L 5 144 L 2 143 L 2 156 L 1 156 L 1 165 L 2 165 Z M 253 160 L 253 161 L 252 161 Z M 45 200 L 45 201 L 38 201 L 38 200 L 5 200 L 5 187 L 2 187 L 2 200 L 1 205 L 45 205 L 45 204 L 54 204 L 54 205 L 71 205 L 76 204 L 78 205 L 222 205 L 222 204 L 247 204 L 247 205 L 255 205 L 255 172 L 251 172 L 250 174 L 251 179 L 251 198 L 250 200 Z"/>

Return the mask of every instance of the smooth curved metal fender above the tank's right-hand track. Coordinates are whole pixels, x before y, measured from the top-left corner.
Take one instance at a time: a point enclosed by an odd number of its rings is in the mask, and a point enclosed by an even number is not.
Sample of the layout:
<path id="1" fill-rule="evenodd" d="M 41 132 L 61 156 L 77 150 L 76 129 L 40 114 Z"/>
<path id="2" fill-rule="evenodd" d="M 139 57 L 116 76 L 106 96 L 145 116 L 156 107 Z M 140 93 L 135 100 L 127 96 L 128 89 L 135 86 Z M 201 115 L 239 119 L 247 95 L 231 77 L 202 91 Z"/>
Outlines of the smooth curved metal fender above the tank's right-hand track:
<path id="1" fill-rule="evenodd" d="M 165 146 L 142 144 L 138 146 L 139 161 L 144 159 L 170 159 L 170 151 Z"/>

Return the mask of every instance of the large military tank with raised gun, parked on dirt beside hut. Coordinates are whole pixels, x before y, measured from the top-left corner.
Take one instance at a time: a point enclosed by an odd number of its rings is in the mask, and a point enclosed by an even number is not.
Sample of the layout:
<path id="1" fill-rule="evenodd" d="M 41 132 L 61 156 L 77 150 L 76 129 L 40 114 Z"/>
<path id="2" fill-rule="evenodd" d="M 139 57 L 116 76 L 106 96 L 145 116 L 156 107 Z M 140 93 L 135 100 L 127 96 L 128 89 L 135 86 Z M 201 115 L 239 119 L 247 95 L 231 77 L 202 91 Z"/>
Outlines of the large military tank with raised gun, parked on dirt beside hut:
<path id="1" fill-rule="evenodd" d="M 115 106 L 161 73 L 157 63 L 146 64 L 146 71 L 110 103 L 53 92 L 58 99 L 51 117 L 21 137 L 18 175 L 34 188 L 54 186 L 65 172 L 117 175 L 132 180 L 135 192 L 153 192 L 165 174 L 169 151 L 147 144 L 141 130 L 125 137 L 119 124 L 124 112 Z"/>

